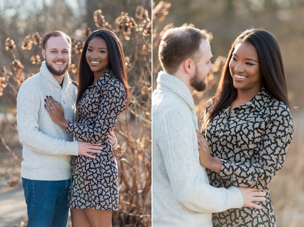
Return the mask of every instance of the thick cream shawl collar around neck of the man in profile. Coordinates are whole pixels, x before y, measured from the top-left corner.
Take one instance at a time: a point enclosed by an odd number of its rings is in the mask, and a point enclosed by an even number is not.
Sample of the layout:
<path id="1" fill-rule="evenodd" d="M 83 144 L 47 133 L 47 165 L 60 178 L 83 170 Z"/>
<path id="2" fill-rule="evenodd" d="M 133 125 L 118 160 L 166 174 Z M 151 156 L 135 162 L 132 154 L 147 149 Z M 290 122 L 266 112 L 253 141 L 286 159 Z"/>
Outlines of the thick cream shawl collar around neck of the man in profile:
<path id="1" fill-rule="evenodd" d="M 157 77 L 157 89 L 167 90 L 178 95 L 189 106 L 191 111 L 195 110 L 192 94 L 181 80 L 171 74 L 160 71 Z"/>

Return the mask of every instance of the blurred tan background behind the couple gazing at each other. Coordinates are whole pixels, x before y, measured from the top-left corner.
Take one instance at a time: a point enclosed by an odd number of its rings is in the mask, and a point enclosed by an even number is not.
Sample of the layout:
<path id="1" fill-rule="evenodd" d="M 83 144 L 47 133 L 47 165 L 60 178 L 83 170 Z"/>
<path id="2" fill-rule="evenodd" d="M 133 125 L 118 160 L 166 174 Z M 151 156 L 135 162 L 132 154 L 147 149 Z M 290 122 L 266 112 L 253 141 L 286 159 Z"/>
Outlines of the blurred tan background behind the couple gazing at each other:
<path id="1" fill-rule="evenodd" d="M 285 164 L 269 187 L 279 227 L 302 226 L 304 222 L 304 1 L 303 0 L 179 0 L 153 2 L 153 89 L 161 65 L 157 58 L 161 36 L 168 28 L 193 26 L 209 33 L 213 71 L 208 91 L 194 92 L 198 116 L 216 91 L 223 63 L 231 44 L 248 28 L 272 33 L 281 48 L 288 97 L 292 105 L 294 137 Z M 201 125 L 199 119 L 199 126 Z"/>

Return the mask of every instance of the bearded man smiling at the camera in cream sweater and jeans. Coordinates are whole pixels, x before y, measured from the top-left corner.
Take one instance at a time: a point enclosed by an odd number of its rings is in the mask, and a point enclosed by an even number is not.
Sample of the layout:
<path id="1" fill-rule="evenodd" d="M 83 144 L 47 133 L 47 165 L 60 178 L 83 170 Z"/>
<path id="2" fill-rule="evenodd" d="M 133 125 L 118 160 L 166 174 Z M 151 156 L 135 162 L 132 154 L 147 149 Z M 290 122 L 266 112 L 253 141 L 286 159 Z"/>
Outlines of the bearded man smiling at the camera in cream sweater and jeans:
<path id="1" fill-rule="evenodd" d="M 29 227 L 67 225 L 71 155 L 100 153 L 100 144 L 73 141 L 66 129 L 52 121 L 44 99 L 54 97 L 67 119 L 75 120 L 77 87 L 69 81 L 71 39 L 61 31 L 43 37 L 45 61 L 40 72 L 27 79 L 17 96 L 17 126 L 23 144 L 21 177 Z M 48 96 L 47 96 L 48 95 Z"/>

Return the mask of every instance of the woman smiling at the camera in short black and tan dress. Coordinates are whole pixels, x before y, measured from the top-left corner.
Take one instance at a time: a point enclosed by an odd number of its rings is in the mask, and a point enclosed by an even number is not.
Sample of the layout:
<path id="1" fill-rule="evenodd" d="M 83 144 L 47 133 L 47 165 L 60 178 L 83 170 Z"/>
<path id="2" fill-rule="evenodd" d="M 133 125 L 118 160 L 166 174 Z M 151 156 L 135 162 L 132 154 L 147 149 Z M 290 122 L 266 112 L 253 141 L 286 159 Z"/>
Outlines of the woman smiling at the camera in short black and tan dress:
<path id="1" fill-rule="evenodd" d="M 47 99 L 46 109 L 77 140 L 101 143 L 103 150 L 95 157 L 72 158 L 68 204 L 73 227 L 108 227 L 112 211 L 118 210 L 118 173 L 107 135 L 128 106 L 130 88 L 118 37 L 106 29 L 94 31 L 78 65 L 78 122 L 65 119 L 62 106 L 53 98 Z"/>

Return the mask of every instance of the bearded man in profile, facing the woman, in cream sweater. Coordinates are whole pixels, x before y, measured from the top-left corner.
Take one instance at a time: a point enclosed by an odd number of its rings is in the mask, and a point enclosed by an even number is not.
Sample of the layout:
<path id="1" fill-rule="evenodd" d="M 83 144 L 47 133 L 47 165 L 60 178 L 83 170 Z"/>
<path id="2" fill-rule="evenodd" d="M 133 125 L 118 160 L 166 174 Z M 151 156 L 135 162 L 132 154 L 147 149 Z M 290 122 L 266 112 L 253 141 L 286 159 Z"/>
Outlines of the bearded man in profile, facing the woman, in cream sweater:
<path id="1" fill-rule="evenodd" d="M 215 188 L 200 165 L 192 92 L 205 91 L 213 69 L 208 35 L 195 28 L 168 29 L 159 46 L 163 71 L 152 97 L 153 226 L 211 227 L 212 212 L 261 208 L 264 192 Z M 203 144 L 205 146 L 205 144 Z"/>

